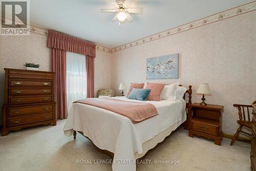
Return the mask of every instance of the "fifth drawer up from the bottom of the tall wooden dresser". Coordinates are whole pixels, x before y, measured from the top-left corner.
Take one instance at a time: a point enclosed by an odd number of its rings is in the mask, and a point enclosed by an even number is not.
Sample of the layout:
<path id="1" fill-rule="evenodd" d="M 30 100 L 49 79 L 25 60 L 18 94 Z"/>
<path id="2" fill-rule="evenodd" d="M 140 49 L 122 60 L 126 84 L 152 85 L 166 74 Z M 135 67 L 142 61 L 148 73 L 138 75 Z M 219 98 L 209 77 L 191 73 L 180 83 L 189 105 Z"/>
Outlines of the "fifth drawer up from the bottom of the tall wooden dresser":
<path id="1" fill-rule="evenodd" d="M 10 87 L 23 87 L 23 86 L 43 86 L 43 87 L 49 87 L 52 86 L 52 81 L 28 81 L 28 80 L 15 80 L 10 79 L 9 81 Z"/>

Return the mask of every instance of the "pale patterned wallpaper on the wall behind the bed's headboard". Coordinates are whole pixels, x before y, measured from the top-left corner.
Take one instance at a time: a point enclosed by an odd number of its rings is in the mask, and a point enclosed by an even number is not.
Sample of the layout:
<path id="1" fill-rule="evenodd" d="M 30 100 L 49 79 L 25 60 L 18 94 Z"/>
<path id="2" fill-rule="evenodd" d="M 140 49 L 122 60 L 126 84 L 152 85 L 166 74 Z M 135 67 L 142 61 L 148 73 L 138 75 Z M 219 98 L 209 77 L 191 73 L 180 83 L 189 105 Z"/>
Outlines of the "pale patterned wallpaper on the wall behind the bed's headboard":
<path id="1" fill-rule="evenodd" d="M 192 102 L 201 102 L 196 91 L 209 83 L 212 95 L 206 103 L 224 105 L 223 132 L 238 129 L 234 103 L 251 104 L 256 98 L 256 11 L 204 27 L 149 41 L 112 53 L 111 88 L 119 93 L 120 82 L 180 82 L 192 86 Z M 179 53 L 178 79 L 146 79 L 146 59 Z M 126 93 L 126 91 L 125 91 Z"/>

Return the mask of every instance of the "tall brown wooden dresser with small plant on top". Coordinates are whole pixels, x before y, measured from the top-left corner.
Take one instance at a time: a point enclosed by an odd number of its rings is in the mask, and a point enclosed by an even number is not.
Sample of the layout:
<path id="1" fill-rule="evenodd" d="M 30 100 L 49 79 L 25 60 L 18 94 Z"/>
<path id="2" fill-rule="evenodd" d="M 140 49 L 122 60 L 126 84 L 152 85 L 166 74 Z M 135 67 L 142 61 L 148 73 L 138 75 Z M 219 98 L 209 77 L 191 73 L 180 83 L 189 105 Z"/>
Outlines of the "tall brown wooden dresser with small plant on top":
<path id="1" fill-rule="evenodd" d="M 53 72 L 5 68 L 2 136 L 24 127 L 56 125 Z"/>

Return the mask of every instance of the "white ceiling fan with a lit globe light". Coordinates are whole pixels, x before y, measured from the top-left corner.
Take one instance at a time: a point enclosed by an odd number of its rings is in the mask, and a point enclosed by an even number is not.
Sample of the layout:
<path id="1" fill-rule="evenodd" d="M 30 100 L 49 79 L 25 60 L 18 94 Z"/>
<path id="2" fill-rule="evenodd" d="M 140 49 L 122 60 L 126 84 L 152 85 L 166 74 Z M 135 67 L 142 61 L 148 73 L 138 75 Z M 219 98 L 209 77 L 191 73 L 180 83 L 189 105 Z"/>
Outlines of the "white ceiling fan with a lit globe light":
<path id="1" fill-rule="evenodd" d="M 115 6 L 113 9 L 101 9 L 101 12 L 118 12 L 115 17 L 112 19 L 113 22 L 119 20 L 120 22 L 125 22 L 127 19 L 129 22 L 133 21 L 133 17 L 130 13 L 142 14 L 143 8 L 133 8 L 130 5 L 133 3 L 134 0 L 108 0 L 112 5 Z"/>

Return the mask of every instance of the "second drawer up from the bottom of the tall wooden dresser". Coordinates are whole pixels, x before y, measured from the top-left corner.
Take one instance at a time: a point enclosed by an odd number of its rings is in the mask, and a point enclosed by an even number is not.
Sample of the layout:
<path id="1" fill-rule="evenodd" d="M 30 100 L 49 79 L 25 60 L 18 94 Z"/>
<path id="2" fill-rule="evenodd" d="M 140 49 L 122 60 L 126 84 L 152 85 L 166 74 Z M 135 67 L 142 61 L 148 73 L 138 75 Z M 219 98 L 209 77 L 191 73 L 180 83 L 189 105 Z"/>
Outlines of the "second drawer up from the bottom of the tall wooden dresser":
<path id="1" fill-rule="evenodd" d="M 22 108 L 9 108 L 8 116 L 23 116 L 30 114 L 38 114 L 44 112 L 53 112 L 53 104 L 50 105 L 40 105 L 40 106 L 26 106 Z"/>

